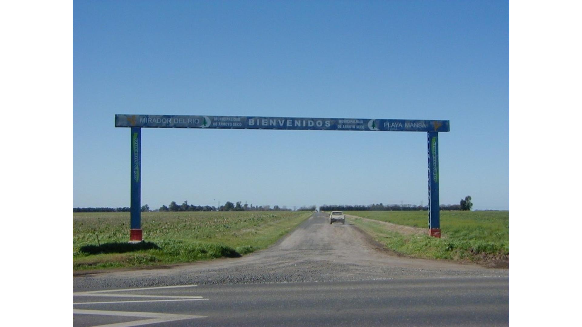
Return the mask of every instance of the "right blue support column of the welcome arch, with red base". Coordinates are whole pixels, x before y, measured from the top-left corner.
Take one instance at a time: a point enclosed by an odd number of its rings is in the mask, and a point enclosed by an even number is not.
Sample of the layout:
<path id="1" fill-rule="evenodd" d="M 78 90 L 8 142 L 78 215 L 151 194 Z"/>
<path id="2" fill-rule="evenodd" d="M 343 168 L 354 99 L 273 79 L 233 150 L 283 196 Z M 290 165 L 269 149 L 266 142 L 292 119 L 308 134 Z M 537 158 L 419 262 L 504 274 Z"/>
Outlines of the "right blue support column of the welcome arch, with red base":
<path id="1" fill-rule="evenodd" d="M 431 236 L 441 237 L 438 194 L 438 132 L 428 133 L 428 229 Z"/>

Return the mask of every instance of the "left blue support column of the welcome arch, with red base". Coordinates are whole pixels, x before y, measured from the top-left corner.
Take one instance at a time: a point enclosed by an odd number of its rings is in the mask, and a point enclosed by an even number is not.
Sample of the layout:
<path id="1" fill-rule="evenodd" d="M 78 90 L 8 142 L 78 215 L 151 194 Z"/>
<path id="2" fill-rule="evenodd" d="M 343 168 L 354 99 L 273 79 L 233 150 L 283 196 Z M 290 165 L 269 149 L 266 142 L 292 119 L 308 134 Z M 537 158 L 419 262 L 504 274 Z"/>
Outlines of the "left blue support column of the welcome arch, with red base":
<path id="1" fill-rule="evenodd" d="M 141 128 L 132 127 L 130 241 L 141 241 Z"/>

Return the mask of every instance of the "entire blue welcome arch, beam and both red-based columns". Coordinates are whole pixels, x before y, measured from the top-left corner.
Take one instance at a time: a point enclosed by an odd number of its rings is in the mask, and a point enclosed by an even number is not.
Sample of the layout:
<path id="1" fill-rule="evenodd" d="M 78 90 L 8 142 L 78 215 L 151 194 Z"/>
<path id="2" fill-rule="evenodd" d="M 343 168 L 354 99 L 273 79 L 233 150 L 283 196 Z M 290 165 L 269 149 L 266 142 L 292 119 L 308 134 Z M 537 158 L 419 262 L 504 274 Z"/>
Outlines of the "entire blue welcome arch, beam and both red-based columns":
<path id="1" fill-rule="evenodd" d="M 424 131 L 428 135 L 428 228 L 441 237 L 438 193 L 438 133 L 449 120 L 295 118 L 253 116 L 115 115 L 115 127 L 131 128 L 130 241 L 141 241 L 141 128 Z"/>

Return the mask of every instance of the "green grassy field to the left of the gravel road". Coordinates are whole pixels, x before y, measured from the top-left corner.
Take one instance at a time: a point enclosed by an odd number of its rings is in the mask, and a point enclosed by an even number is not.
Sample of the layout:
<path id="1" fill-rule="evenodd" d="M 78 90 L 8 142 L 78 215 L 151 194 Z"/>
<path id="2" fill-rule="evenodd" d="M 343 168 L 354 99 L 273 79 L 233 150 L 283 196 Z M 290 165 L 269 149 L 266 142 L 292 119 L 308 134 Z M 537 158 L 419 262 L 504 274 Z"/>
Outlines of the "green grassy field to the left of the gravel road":
<path id="1" fill-rule="evenodd" d="M 275 243 L 311 212 L 143 212 L 145 242 L 128 244 L 129 212 L 73 214 L 73 271 L 240 257 Z"/>

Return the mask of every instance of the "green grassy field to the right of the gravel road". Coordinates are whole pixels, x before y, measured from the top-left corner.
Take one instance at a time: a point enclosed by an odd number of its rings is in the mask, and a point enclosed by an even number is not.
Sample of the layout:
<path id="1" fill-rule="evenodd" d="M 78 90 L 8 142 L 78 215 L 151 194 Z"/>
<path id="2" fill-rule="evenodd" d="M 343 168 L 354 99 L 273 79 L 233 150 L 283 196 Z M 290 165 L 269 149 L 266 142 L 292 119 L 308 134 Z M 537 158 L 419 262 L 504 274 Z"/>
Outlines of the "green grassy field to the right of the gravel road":
<path id="1" fill-rule="evenodd" d="M 428 229 L 426 211 L 352 211 L 375 221 Z M 441 239 L 404 235 L 377 222 L 351 219 L 386 248 L 416 258 L 469 261 L 509 266 L 509 211 L 441 211 Z"/>

